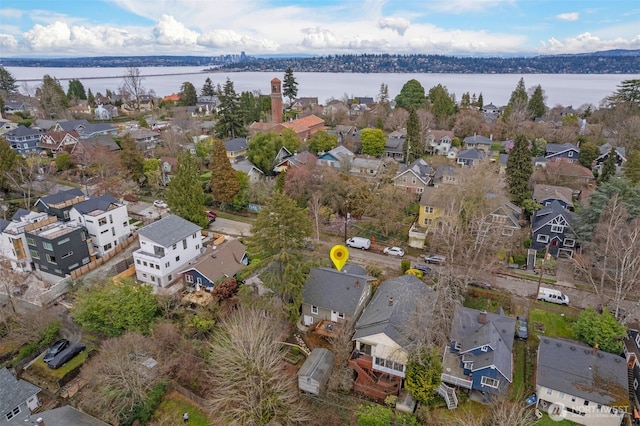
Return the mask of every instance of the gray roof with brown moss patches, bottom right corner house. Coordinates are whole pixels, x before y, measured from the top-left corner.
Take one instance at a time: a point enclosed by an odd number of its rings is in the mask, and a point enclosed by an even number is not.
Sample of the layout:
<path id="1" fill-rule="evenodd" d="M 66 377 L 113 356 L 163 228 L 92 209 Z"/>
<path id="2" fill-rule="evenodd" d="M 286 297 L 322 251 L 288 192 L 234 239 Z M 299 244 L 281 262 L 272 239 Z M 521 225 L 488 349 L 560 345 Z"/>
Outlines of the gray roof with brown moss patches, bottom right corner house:
<path id="1" fill-rule="evenodd" d="M 628 404 L 624 358 L 571 340 L 542 337 L 536 383 L 597 404 Z"/>

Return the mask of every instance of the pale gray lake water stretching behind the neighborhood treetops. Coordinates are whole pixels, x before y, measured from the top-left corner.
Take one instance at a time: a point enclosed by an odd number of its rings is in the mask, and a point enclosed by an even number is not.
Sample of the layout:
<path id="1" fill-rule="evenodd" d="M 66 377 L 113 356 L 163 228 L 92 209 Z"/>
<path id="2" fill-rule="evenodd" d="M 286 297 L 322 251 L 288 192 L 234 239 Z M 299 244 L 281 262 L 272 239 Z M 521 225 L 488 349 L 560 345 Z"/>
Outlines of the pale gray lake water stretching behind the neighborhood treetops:
<path id="1" fill-rule="evenodd" d="M 20 90 L 33 95 L 42 84 L 45 75 L 55 77 L 67 89 L 70 79 L 79 79 L 85 90 L 104 94 L 107 89 L 118 92 L 126 68 L 36 68 L 5 67 L 20 84 Z M 214 85 L 223 85 L 227 78 L 234 83 L 235 90 L 257 91 L 268 94 L 270 81 L 274 77 L 282 80 L 283 73 L 277 72 L 203 72 L 202 67 L 140 67 L 144 76 L 142 82 L 146 90 L 155 91 L 162 97 L 180 91 L 182 83 L 192 83 L 199 92 L 209 77 Z M 394 98 L 402 86 L 411 79 L 418 80 L 428 91 L 437 84 L 447 87 L 449 93 L 460 100 L 462 94 L 476 95 L 482 92 L 485 104 L 505 105 L 520 78 L 524 78 L 527 89 L 542 86 L 547 97 L 547 106 L 572 105 L 578 108 L 584 104 L 596 107 L 618 88 L 623 80 L 638 79 L 638 74 L 428 74 L 428 73 L 295 73 L 299 97 L 317 97 L 321 104 L 335 98 L 369 96 L 377 98 L 380 85 L 387 84 L 389 97 Z"/>

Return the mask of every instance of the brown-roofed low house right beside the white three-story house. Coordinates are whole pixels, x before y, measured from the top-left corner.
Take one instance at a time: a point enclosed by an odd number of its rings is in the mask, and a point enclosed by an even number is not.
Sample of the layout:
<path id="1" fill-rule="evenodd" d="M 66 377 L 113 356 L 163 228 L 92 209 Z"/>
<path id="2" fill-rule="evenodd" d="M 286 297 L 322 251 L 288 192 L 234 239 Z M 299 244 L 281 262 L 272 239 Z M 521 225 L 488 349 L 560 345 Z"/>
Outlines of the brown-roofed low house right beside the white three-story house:
<path id="1" fill-rule="evenodd" d="M 189 287 L 211 291 L 221 280 L 233 278 L 249 264 L 246 247 L 238 240 L 207 247 L 197 262 L 180 273 Z"/>

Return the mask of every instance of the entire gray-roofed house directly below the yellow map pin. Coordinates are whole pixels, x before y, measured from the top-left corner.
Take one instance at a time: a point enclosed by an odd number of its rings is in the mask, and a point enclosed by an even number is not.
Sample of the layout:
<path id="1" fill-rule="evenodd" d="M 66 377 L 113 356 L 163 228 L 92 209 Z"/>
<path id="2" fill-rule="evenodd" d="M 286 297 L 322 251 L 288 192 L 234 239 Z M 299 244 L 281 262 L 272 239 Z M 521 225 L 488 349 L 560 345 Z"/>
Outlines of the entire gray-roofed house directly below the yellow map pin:
<path id="1" fill-rule="evenodd" d="M 302 293 L 302 322 L 305 326 L 322 321 L 338 323 L 355 321 L 371 296 L 376 279 L 361 266 L 347 264 L 338 271 L 313 268 Z"/>

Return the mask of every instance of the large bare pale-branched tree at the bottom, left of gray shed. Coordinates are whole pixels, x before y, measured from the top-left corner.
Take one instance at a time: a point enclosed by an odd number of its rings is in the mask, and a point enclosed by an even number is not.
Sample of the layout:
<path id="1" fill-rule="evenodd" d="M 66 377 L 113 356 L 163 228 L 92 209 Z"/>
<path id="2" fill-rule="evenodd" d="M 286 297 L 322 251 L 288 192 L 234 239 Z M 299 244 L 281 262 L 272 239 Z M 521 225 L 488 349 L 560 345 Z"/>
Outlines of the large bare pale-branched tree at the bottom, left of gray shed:
<path id="1" fill-rule="evenodd" d="M 308 421 L 295 377 L 283 374 L 284 353 L 278 343 L 286 320 L 266 311 L 240 308 L 211 341 L 209 370 L 215 389 L 211 409 L 228 425 L 294 424 Z"/>

